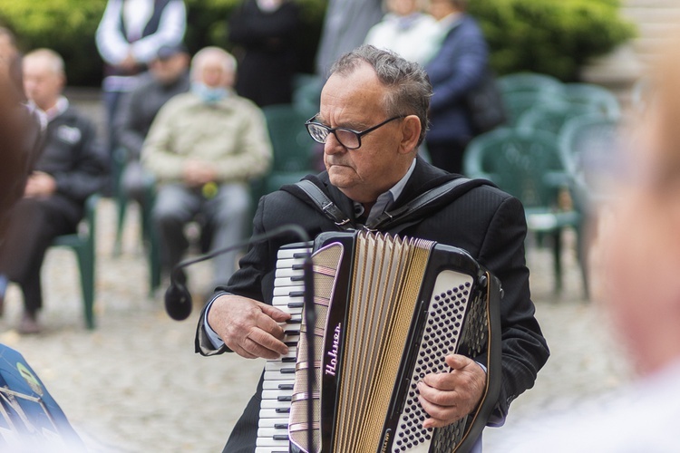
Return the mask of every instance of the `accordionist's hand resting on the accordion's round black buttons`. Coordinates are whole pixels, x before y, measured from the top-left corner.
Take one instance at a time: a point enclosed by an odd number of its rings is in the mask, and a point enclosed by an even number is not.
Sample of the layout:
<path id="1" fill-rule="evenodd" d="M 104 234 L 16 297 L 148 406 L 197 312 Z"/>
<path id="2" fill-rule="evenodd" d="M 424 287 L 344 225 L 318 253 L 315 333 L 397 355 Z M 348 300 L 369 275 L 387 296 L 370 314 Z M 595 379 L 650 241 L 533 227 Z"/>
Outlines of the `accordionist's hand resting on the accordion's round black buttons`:
<path id="1" fill-rule="evenodd" d="M 474 410 L 486 385 L 481 366 L 464 355 L 446 356 L 450 372 L 431 373 L 418 383 L 423 410 L 430 414 L 423 428 L 442 428 Z"/>

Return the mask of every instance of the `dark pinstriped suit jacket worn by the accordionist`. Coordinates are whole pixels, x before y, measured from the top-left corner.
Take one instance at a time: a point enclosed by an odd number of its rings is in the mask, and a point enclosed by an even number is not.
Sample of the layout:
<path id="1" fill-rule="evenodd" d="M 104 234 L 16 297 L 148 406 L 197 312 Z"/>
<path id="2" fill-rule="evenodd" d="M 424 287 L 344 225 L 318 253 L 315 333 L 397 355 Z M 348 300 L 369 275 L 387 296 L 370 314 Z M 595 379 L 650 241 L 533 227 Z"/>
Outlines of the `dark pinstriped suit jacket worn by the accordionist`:
<path id="1" fill-rule="evenodd" d="M 413 175 L 394 207 L 451 178 L 456 176 L 418 159 Z M 335 204 L 354 220 L 352 200 L 330 185 L 325 172 L 318 180 L 324 183 L 327 195 L 335 200 Z M 254 233 L 261 234 L 284 224 L 298 224 L 312 237 L 322 231 L 338 229 L 306 199 L 287 191 L 279 190 L 261 198 L 253 221 Z M 500 279 L 505 293 L 501 301 L 503 383 L 491 425 L 503 423 L 510 401 L 533 386 L 539 369 L 549 356 L 529 294 L 529 269 L 524 259 L 526 232 L 520 201 L 486 185 L 471 189 L 448 207 L 438 209 L 401 232 L 403 236 L 461 247 Z M 241 269 L 233 275 L 228 286 L 219 290 L 270 303 L 277 250 L 284 244 L 298 241 L 291 236 L 251 247 L 240 262 Z M 226 348 L 215 351 L 209 346 L 203 332 L 203 316 L 201 313 L 196 351 L 204 355 L 226 351 Z M 241 446 L 247 447 L 243 451 L 253 450 L 258 410 L 259 389 L 232 432 L 225 451 L 240 451 Z"/>

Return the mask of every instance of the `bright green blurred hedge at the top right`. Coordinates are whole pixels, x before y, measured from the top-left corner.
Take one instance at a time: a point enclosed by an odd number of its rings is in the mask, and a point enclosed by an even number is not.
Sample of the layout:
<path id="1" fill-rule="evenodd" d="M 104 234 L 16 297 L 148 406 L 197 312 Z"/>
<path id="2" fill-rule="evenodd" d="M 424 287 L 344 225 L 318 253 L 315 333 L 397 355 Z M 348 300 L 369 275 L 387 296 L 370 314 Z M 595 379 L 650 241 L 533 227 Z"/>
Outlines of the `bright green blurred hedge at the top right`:
<path id="1" fill-rule="evenodd" d="M 636 35 L 620 0 L 471 0 L 499 74 L 532 71 L 578 79 L 579 68 Z"/>

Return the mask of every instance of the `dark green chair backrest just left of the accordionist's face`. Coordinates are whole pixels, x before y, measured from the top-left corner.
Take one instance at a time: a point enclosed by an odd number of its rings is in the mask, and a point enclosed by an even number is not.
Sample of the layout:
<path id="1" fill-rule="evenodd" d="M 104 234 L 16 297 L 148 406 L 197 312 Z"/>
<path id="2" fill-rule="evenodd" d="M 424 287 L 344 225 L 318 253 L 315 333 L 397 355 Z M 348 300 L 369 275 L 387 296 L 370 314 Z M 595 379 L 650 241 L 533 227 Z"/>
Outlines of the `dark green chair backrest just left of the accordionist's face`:
<path id="1" fill-rule="evenodd" d="M 262 108 L 274 149 L 272 171 L 306 171 L 312 168 L 315 141 L 305 129 L 305 111 L 293 104 L 267 105 Z"/>

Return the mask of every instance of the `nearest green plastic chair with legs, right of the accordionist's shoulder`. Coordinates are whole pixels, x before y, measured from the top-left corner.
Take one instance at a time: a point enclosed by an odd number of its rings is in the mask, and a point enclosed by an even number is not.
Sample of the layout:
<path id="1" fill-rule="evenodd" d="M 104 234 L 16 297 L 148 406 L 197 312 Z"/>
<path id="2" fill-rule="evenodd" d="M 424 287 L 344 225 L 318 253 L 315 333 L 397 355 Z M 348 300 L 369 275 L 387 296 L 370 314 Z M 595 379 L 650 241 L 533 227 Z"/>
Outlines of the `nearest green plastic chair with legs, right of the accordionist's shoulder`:
<path id="1" fill-rule="evenodd" d="M 487 178 L 499 188 L 520 199 L 524 205 L 529 232 L 550 236 L 554 259 L 555 291 L 562 288 L 562 231 L 580 231 L 581 216 L 576 210 L 559 207 L 556 184 L 564 174 L 558 139 L 543 130 L 503 128 L 473 139 L 463 157 L 464 173 L 471 178 Z"/>

